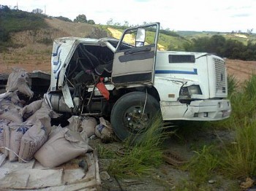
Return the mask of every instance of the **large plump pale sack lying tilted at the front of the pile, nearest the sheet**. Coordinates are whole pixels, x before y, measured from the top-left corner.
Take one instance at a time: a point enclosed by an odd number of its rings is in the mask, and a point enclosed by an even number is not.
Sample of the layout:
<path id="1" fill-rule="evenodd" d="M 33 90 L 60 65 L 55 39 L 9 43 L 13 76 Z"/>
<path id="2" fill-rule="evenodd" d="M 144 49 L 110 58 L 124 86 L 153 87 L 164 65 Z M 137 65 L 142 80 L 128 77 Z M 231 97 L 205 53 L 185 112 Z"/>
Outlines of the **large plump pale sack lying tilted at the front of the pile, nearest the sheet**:
<path id="1" fill-rule="evenodd" d="M 78 157 L 89 148 L 88 141 L 80 133 L 59 127 L 34 157 L 43 166 L 53 168 Z"/>

